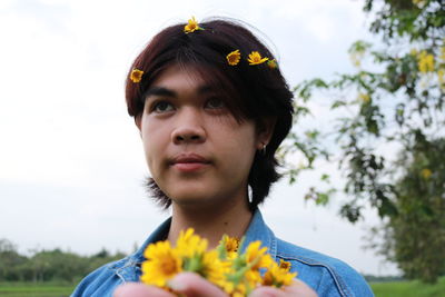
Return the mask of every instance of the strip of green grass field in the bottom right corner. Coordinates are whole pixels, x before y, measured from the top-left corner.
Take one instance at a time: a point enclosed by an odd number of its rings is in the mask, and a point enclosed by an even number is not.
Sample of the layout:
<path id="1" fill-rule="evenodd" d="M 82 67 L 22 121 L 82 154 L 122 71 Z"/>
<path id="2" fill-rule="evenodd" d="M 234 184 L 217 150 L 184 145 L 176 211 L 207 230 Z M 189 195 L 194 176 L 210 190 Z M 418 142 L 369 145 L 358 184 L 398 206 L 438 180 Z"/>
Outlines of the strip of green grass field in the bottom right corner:
<path id="1" fill-rule="evenodd" d="M 370 284 L 376 297 L 445 297 L 445 277 L 435 285 L 417 280 Z"/>

